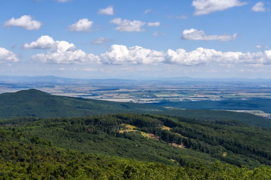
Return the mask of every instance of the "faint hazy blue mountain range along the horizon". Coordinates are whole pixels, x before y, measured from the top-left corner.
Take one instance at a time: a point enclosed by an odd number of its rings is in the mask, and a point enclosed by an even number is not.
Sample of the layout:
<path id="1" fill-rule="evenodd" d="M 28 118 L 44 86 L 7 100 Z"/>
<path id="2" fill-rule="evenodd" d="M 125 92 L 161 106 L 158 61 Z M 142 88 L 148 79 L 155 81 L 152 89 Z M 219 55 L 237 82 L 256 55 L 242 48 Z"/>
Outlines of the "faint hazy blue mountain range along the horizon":
<path id="1" fill-rule="evenodd" d="M 271 82 L 271 79 L 264 78 L 192 78 L 188 76 L 183 77 L 151 77 L 151 76 L 128 76 L 119 78 L 100 78 L 100 79 L 80 79 L 80 78 L 66 78 L 54 75 L 47 76 L 5 76 L 0 75 L 1 82 L 138 82 L 139 80 L 149 81 L 247 81 L 247 82 Z"/>

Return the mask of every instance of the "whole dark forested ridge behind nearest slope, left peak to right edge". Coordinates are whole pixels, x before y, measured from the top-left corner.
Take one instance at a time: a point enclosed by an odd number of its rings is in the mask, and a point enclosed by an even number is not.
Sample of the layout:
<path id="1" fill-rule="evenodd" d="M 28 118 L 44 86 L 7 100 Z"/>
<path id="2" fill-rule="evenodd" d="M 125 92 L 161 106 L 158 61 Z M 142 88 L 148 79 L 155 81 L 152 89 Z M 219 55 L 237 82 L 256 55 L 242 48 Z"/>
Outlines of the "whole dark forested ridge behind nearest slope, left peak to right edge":
<path id="1" fill-rule="evenodd" d="M 76 117 L 125 112 L 178 115 L 206 120 L 238 120 L 249 125 L 271 127 L 271 120 L 242 112 L 170 110 L 158 105 L 58 96 L 36 89 L 0 94 L 0 119 L 23 116 Z"/>

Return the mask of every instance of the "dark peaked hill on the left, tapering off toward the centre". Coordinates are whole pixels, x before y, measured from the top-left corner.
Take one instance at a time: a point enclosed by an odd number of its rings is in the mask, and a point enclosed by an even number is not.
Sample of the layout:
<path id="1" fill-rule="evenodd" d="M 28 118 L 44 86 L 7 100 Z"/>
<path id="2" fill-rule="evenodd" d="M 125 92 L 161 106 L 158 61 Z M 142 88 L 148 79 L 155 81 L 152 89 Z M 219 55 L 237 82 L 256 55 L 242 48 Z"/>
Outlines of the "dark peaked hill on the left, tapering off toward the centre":
<path id="1" fill-rule="evenodd" d="M 0 94 L 0 118 L 18 116 L 65 117 L 116 112 L 167 110 L 156 105 L 52 95 L 37 89 Z"/>

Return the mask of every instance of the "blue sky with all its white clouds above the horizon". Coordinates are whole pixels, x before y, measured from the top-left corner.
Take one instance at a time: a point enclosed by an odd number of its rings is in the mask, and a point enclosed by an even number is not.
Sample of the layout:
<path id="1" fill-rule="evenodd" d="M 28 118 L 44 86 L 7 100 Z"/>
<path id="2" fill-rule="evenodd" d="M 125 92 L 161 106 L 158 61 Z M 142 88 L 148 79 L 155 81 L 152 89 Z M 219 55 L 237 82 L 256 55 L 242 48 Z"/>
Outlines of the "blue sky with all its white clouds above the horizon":
<path id="1" fill-rule="evenodd" d="M 0 0 L 0 75 L 269 78 L 269 1 Z"/>

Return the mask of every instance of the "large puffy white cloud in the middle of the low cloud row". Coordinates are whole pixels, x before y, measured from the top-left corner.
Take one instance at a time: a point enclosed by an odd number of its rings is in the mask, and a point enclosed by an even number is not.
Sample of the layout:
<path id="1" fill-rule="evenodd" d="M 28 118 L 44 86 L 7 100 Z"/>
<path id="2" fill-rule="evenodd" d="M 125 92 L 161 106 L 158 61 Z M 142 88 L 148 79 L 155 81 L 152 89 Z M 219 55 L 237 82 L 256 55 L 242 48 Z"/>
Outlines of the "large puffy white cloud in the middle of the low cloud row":
<path id="1" fill-rule="evenodd" d="M 165 52 L 146 49 L 140 46 L 126 47 L 111 45 L 109 51 L 101 54 L 101 61 L 106 64 L 157 64 L 164 60 Z"/>

